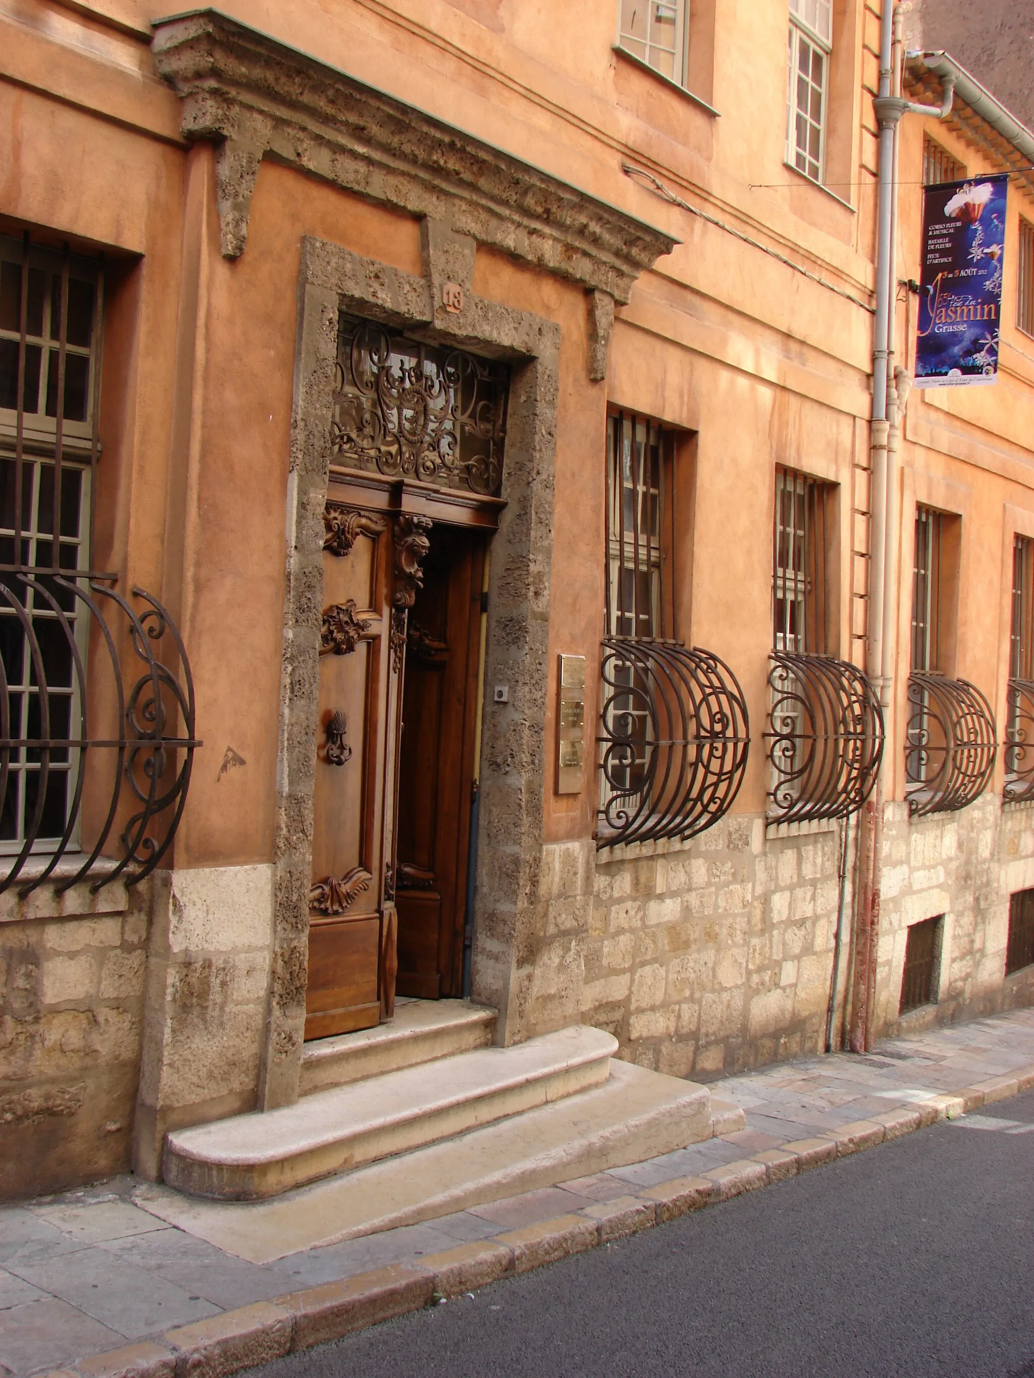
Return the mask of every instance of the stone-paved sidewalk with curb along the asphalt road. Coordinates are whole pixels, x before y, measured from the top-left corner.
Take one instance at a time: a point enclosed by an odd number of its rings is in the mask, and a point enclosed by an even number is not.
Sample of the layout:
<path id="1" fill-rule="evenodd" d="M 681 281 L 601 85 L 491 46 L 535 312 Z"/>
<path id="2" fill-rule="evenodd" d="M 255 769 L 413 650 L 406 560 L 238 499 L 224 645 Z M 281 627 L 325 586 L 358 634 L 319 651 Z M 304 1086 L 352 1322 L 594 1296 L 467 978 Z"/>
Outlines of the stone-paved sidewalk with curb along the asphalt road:
<path id="1" fill-rule="evenodd" d="M 433 1295 L 660 1224 L 1028 1084 L 1034 1010 L 900 1038 L 869 1057 L 783 1062 L 713 1083 L 717 1097 L 743 1108 L 747 1127 L 739 1131 L 263 1266 L 149 1214 L 134 1202 L 131 1177 L 1 1207 L 0 1375 L 69 1368 L 84 1378 L 113 1378 L 131 1356 L 105 1355 L 143 1339 L 157 1344 L 135 1350 L 135 1371 L 171 1375 L 183 1367 L 179 1356 L 216 1341 L 233 1350 L 232 1337 L 244 1330 L 259 1337 L 258 1349 L 240 1348 L 240 1360 L 225 1350 L 219 1368 L 230 1372 L 254 1361 L 248 1356 L 273 1357 L 330 1338 L 330 1330 L 320 1334 L 312 1326 L 309 1338 L 301 1338 L 313 1298 L 334 1293 L 320 1284 L 352 1280 L 335 1302 L 336 1333 L 345 1333 L 342 1324 L 357 1328 L 426 1305 Z M 342 1297 L 352 1305 L 347 1323 L 341 1320 Z M 363 1297 L 372 1298 L 365 1310 Z"/>

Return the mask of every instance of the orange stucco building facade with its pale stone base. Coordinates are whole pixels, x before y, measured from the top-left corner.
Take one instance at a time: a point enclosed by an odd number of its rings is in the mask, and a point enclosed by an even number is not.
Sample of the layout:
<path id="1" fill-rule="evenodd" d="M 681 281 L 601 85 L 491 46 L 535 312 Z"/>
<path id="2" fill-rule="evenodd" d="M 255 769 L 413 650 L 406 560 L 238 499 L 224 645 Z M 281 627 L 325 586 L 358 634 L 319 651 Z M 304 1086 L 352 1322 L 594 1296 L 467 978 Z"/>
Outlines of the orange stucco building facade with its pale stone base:
<path id="1" fill-rule="evenodd" d="M 523 792 L 514 805 L 485 795 L 473 998 L 500 1010 L 505 1042 L 598 1024 L 622 1056 L 680 1076 L 819 1049 L 831 988 L 837 1036 L 847 1028 L 856 831 L 772 823 L 764 734 L 776 466 L 830 485 L 827 649 L 866 668 L 878 12 L 833 4 L 816 185 L 786 163 L 786 6 L 693 3 L 685 85 L 615 47 L 615 8 L 226 0 L 230 37 L 212 40 L 190 29 L 210 11 L 182 19 L 154 0 L 0 0 L 0 230 L 103 255 L 95 568 L 168 608 L 204 741 L 146 885 L 0 898 L 6 1195 L 130 1162 L 156 1177 L 167 1129 L 298 1094 L 305 934 L 283 876 L 287 852 L 310 845 L 312 824 L 291 821 L 291 752 L 314 741 L 316 721 L 291 718 L 290 609 L 312 517 L 298 497 L 305 340 L 320 333 L 306 291 L 331 291 L 312 245 L 346 255 L 342 281 L 372 265 L 368 299 L 390 298 L 401 321 L 405 292 L 438 284 L 425 222 L 473 245 L 463 347 L 509 360 L 514 376 L 538 361 L 547 379 L 528 404 L 534 473 L 509 493 L 492 547 L 485 683 L 509 674 L 511 623 L 495 613 L 509 598 L 525 609 L 511 704 L 531 704 L 534 721 L 518 751 L 503 711 L 484 704 L 483 779 L 520 776 Z M 194 54 L 223 40 L 233 59 L 205 76 Z M 352 85 L 335 113 L 336 80 Z M 353 119 L 353 87 L 412 112 L 412 142 L 405 121 L 389 130 L 385 116 L 381 138 Z M 973 172 L 1005 167 L 977 124 L 902 125 L 902 281 L 918 276 L 924 136 Z M 489 185 L 491 158 L 510 190 Z M 1012 309 L 1034 190 L 1015 179 L 1009 197 L 997 384 L 913 393 L 900 427 L 874 978 L 885 1032 L 904 1027 L 907 929 L 933 916 L 939 985 L 913 1022 L 1034 991 L 1028 970 L 1004 969 L 1009 896 L 1034 887 L 1030 813 L 1002 803 L 1005 752 L 966 810 L 913 820 L 904 803 L 917 503 L 961 517 L 951 664 L 939 668 L 976 683 L 1000 729 L 1008 718 L 1013 537 L 1034 536 L 1034 339 Z M 600 294 L 615 311 L 602 335 Z M 917 302 L 907 287 L 899 298 L 910 368 Z M 444 339 L 441 311 L 432 300 L 416 324 Z M 713 828 L 597 850 L 608 409 L 677 435 L 680 637 L 731 667 L 751 750 Z M 557 791 L 560 653 L 586 657 L 580 792 Z"/>

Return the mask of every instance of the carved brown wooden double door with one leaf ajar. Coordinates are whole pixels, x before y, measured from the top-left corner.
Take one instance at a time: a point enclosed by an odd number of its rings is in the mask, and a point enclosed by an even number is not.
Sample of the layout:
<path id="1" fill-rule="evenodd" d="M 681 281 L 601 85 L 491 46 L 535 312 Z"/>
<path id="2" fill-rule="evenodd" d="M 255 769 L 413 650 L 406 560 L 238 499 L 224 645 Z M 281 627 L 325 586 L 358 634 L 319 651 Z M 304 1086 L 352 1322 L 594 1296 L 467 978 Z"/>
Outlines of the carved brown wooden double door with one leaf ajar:
<path id="1" fill-rule="evenodd" d="M 354 486 L 324 517 L 307 1039 L 463 978 L 485 518 Z"/>

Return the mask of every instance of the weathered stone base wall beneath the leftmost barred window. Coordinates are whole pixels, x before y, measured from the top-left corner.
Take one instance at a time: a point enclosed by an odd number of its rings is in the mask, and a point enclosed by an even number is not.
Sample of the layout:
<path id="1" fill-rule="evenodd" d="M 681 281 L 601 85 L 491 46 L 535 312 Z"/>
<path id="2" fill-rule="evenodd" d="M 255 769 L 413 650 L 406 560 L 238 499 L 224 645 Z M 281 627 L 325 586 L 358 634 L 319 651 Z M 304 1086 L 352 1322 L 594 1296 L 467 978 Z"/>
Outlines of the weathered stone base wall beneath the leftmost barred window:
<path id="1" fill-rule="evenodd" d="M 146 885 L 0 897 L 0 1200 L 130 1166 Z"/>

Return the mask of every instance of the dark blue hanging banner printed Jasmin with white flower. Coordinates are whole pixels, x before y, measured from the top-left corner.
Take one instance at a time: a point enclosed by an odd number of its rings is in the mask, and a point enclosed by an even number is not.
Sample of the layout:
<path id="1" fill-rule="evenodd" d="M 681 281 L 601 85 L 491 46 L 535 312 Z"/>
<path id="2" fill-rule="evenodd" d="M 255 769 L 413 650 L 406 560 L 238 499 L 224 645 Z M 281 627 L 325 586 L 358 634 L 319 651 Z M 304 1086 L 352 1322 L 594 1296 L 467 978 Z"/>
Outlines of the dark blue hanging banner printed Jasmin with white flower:
<path id="1" fill-rule="evenodd" d="M 1009 175 L 922 192 L 915 386 L 994 383 Z"/>

